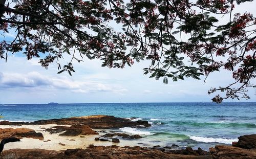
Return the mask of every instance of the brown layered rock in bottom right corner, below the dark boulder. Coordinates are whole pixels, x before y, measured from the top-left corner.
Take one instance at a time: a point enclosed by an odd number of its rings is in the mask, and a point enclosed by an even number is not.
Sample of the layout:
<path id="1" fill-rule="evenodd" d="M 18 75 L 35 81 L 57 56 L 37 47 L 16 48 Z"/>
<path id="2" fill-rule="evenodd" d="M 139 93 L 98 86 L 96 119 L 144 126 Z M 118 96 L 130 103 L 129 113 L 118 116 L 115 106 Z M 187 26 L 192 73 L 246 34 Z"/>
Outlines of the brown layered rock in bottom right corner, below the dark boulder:
<path id="1" fill-rule="evenodd" d="M 225 159 L 245 159 L 256 158 L 256 149 L 244 149 L 240 147 L 216 145 L 215 148 L 209 148 L 213 158 Z"/>

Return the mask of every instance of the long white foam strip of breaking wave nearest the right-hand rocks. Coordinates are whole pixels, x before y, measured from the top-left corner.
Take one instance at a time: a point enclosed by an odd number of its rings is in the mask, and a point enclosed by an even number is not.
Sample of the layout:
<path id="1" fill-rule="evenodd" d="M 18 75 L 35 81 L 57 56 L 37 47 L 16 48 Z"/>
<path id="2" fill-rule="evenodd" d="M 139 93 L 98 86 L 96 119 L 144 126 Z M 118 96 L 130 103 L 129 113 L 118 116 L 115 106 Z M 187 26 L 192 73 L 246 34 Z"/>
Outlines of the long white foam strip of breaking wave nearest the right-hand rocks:
<path id="1" fill-rule="evenodd" d="M 197 142 L 203 143 L 223 143 L 223 144 L 232 144 L 232 142 L 237 142 L 238 139 L 223 139 L 223 138 L 205 138 L 205 137 L 196 137 L 188 135 L 188 137 Z"/>

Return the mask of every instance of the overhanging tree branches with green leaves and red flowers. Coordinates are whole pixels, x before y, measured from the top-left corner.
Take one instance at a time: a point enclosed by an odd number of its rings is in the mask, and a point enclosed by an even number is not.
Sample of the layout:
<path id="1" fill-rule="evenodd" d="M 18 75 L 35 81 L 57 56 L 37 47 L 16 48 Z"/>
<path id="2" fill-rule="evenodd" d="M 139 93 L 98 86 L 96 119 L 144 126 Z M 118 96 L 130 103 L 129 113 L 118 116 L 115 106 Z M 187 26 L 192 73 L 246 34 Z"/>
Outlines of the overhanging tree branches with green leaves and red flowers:
<path id="1" fill-rule="evenodd" d="M 120 68 L 146 59 L 152 62 L 144 74 L 163 77 L 166 84 L 225 69 L 234 82 L 211 88 L 209 94 L 225 93 L 212 101 L 248 99 L 245 88 L 255 87 L 256 19 L 232 12 L 247 1 L 252 0 L 1 0 L 1 36 L 9 31 L 16 36 L 0 42 L 0 56 L 41 56 L 46 69 L 56 62 L 58 73 L 70 75 L 72 61 L 84 57 Z M 221 24 L 225 14 L 230 18 Z M 64 54 L 71 60 L 61 66 Z"/>

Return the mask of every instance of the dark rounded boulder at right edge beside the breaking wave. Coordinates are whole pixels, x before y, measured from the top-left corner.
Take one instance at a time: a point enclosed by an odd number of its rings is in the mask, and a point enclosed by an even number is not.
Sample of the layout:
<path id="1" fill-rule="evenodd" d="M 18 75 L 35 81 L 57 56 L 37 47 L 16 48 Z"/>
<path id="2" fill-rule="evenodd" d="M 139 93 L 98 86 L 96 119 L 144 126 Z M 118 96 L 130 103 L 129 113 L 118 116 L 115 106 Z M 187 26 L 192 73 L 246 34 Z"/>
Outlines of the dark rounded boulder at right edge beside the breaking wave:
<path id="1" fill-rule="evenodd" d="M 243 135 L 238 139 L 238 147 L 256 149 L 256 134 Z"/>

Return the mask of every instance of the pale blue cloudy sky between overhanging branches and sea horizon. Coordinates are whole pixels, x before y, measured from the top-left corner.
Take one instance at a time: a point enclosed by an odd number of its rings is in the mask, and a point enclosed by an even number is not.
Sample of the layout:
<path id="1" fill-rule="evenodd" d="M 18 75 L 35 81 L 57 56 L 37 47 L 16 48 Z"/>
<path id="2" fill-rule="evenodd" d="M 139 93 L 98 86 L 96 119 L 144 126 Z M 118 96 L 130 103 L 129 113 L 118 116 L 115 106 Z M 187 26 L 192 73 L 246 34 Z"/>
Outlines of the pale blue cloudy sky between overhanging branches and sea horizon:
<path id="1" fill-rule="evenodd" d="M 253 5 L 254 4 L 254 5 Z M 256 3 L 247 3 L 247 11 L 256 14 Z M 12 34 L 6 34 L 11 38 Z M 0 40 L 3 37 L 0 36 Z M 66 61 L 70 57 L 65 57 Z M 143 75 L 143 68 L 151 61 L 134 63 L 124 69 L 101 67 L 102 61 L 89 60 L 73 63 L 76 73 L 57 74 L 57 65 L 52 64 L 48 70 L 41 67 L 38 58 L 27 60 L 20 54 L 9 55 L 7 63 L 0 60 L 0 104 L 32 103 L 119 103 L 119 102 L 211 102 L 214 94 L 208 95 L 211 87 L 231 83 L 230 73 L 222 70 L 210 74 L 204 83 L 201 80 L 185 79 L 168 84 L 163 79 L 155 80 Z M 254 84 L 256 80 L 254 79 Z M 250 88 L 250 100 L 256 102 L 255 90 Z M 238 102 L 225 100 L 225 102 Z"/>

